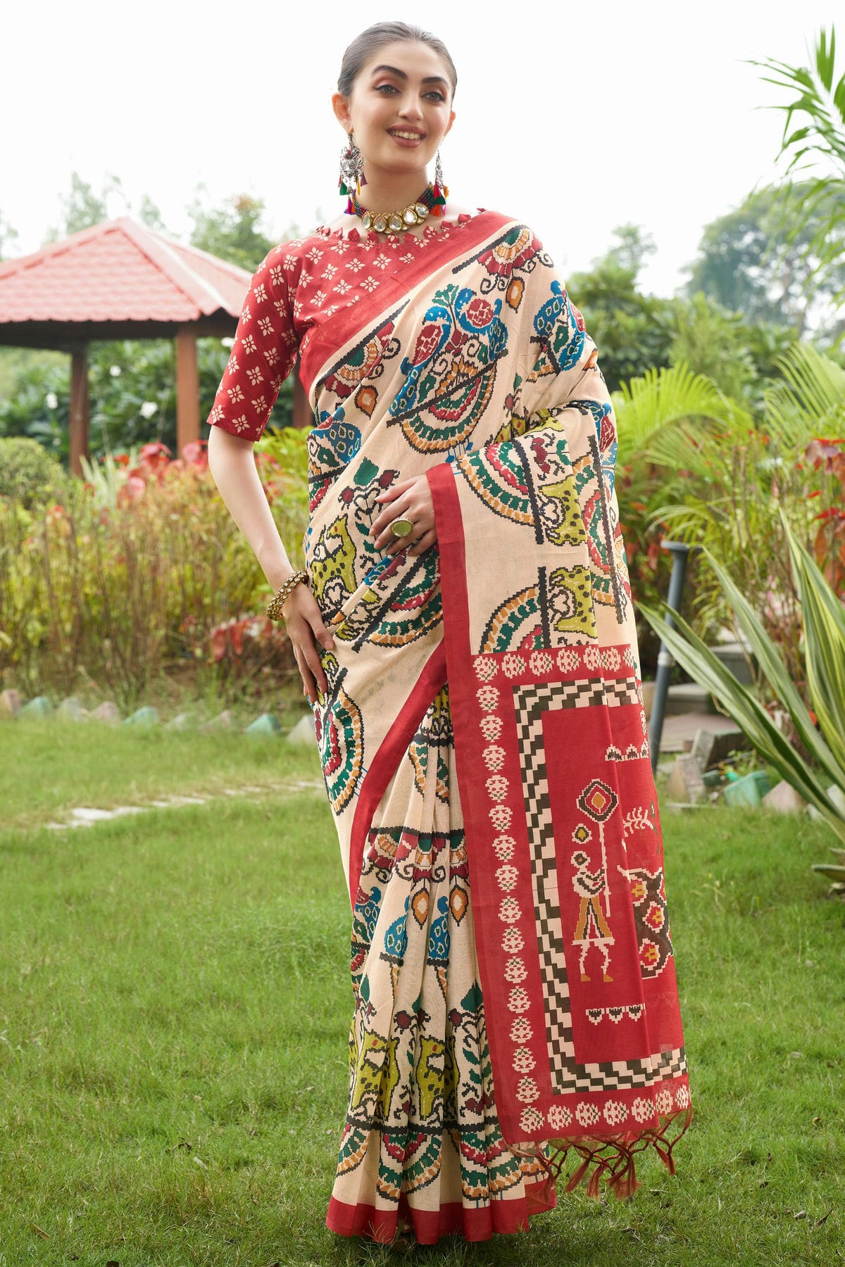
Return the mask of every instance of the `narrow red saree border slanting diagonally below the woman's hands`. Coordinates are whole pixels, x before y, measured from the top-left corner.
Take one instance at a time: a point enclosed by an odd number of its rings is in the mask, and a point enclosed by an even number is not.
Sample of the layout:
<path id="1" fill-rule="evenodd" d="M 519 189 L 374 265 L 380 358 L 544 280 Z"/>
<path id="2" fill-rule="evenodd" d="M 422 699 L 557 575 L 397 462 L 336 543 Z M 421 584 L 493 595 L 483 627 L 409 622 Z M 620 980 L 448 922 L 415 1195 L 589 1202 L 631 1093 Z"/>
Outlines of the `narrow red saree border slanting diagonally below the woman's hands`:
<path id="1" fill-rule="evenodd" d="M 352 834 L 350 839 L 350 902 L 355 910 L 355 900 L 361 877 L 361 864 L 364 860 L 364 848 L 367 832 L 372 825 L 375 811 L 388 788 L 390 779 L 397 773 L 399 761 L 408 751 L 410 740 L 414 737 L 417 726 L 426 716 L 426 710 L 446 682 L 446 650 L 442 642 L 426 661 L 423 672 L 405 703 L 393 722 L 390 730 L 381 740 L 379 750 L 372 758 L 361 791 L 359 792 L 355 817 L 352 820 Z"/>

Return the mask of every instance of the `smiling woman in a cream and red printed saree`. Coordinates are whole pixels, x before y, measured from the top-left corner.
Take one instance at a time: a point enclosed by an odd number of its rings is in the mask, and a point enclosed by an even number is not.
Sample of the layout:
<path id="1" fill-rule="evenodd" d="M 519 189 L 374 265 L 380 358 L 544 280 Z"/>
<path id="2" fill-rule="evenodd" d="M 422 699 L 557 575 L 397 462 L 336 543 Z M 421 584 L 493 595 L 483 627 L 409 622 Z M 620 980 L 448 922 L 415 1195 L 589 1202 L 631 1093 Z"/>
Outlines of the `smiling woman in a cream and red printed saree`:
<path id="1" fill-rule="evenodd" d="M 347 210 L 256 272 L 209 418 L 352 901 L 328 1226 L 422 1243 L 526 1228 L 570 1149 L 627 1195 L 689 1117 L 611 403 L 533 233 L 446 201 L 455 84 L 417 28 L 350 46 Z M 298 353 L 307 574 L 252 460 Z"/>

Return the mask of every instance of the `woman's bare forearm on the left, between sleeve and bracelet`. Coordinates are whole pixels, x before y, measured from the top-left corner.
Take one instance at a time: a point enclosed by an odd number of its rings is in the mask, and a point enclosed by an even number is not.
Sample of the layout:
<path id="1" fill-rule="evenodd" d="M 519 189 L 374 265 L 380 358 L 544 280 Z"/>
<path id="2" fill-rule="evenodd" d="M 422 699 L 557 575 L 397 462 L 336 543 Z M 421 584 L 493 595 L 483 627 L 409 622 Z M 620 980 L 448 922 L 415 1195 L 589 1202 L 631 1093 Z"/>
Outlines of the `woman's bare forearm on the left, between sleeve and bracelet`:
<path id="1" fill-rule="evenodd" d="M 293 566 L 258 479 L 252 441 L 212 427 L 208 465 L 229 514 L 252 546 L 267 582 L 277 589 Z"/>

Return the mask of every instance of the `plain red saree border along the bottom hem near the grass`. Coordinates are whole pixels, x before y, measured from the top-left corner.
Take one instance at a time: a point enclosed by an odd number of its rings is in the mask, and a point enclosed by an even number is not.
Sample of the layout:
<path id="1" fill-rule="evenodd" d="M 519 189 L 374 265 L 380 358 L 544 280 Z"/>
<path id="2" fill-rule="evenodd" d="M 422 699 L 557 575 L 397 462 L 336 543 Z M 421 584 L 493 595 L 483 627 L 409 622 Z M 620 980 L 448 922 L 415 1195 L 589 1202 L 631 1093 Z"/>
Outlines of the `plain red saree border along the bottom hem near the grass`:
<path id="1" fill-rule="evenodd" d="M 524 1185 L 524 1197 L 490 1201 L 485 1206 L 465 1206 L 450 1201 L 438 1210 L 417 1210 L 408 1204 L 404 1192 L 399 1207 L 376 1210 L 374 1205 L 347 1205 L 332 1197 L 326 1216 L 326 1226 L 341 1237 L 369 1237 L 380 1244 L 393 1240 L 399 1220 L 413 1228 L 419 1245 L 433 1245 L 441 1237 L 461 1233 L 465 1240 L 489 1240 L 493 1233 L 512 1235 L 528 1230 L 528 1218 L 554 1210 L 554 1188 L 541 1180 Z"/>

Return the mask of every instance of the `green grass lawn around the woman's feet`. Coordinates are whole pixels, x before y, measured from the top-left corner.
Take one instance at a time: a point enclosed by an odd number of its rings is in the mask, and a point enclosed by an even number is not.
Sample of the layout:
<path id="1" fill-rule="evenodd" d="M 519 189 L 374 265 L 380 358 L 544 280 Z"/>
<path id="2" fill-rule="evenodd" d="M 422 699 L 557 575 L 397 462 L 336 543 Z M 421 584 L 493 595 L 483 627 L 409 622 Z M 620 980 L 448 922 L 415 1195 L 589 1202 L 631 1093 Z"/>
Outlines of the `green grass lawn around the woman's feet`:
<path id="1" fill-rule="evenodd" d="M 696 1119 L 678 1175 L 528 1234 L 331 1235 L 348 905 L 315 758 L 238 734 L 0 726 L 0 1267 L 845 1261 L 845 905 L 822 829 L 665 820 Z M 227 792 L 250 786 L 248 796 Z M 91 827 L 73 806 L 151 810 Z"/>

